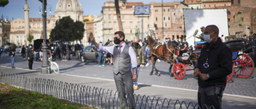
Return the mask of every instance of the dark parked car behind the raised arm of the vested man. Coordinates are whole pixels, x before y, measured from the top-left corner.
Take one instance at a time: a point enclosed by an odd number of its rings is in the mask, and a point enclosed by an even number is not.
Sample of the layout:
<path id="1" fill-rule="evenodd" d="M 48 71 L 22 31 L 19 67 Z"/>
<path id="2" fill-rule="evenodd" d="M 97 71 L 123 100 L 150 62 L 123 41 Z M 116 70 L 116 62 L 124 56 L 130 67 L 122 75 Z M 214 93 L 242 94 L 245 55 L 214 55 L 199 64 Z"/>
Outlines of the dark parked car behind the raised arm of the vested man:
<path id="1" fill-rule="evenodd" d="M 86 46 L 85 49 L 80 53 L 81 61 L 86 62 L 87 60 L 98 60 L 98 51 L 94 45 Z"/>

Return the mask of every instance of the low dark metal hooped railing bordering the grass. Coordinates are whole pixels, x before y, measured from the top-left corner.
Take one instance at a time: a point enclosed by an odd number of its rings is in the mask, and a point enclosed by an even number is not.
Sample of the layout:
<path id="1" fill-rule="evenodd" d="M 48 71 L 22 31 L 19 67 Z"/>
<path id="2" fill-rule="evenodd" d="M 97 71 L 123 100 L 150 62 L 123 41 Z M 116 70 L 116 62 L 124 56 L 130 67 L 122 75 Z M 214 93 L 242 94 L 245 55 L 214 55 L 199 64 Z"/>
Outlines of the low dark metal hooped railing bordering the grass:
<path id="1" fill-rule="evenodd" d="M 105 90 L 102 88 L 89 87 L 86 85 L 71 84 L 58 80 L 27 78 L 23 75 L 6 74 L 1 72 L 0 82 L 14 85 L 15 87 L 25 88 L 30 91 L 37 91 L 46 95 L 53 95 L 59 99 L 66 99 L 75 103 L 85 104 L 96 108 L 136 108 L 136 109 L 188 109 L 200 108 L 198 103 L 186 103 L 184 101 L 151 98 L 146 95 L 128 95 L 134 99 L 129 101 L 129 97 L 122 97 L 118 91 Z M 134 104 L 134 105 L 132 105 Z M 134 107 L 131 107 L 134 106 Z M 203 108 L 208 109 L 204 106 Z M 209 107 L 214 109 L 214 107 Z"/>

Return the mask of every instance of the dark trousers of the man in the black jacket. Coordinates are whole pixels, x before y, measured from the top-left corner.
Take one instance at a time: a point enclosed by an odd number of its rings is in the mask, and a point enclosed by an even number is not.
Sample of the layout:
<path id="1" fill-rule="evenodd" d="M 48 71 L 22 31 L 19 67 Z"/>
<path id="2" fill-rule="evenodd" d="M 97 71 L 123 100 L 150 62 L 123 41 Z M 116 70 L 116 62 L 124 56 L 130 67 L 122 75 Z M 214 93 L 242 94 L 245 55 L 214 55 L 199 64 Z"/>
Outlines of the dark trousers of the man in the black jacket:
<path id="1" fill-rule="evenodd" d="M 201 109 L 222 109 L 222 96 L 224 86 L 210 86 L 207 88 L 198 88 L 198 104 Z"/>

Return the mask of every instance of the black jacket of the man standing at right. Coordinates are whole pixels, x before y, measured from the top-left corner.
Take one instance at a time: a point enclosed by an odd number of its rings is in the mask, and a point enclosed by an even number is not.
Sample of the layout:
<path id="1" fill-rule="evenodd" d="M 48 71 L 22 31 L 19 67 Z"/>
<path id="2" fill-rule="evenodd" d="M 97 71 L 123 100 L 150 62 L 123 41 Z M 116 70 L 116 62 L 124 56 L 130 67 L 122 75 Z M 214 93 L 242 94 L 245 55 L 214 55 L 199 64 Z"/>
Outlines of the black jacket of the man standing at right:
<path id="1" fill-rule="evenodd" d="M 213 45 L 206 44 L 195 68 L 199 68 L 202 73 L 208 73 L 210 78 L 202 81 L 198 77 L 199 87 L 206 88 L 215 84 L 226 86 L 226 76 L 232 72 L 232 66 L 232 53 L 220 38 Z"/>

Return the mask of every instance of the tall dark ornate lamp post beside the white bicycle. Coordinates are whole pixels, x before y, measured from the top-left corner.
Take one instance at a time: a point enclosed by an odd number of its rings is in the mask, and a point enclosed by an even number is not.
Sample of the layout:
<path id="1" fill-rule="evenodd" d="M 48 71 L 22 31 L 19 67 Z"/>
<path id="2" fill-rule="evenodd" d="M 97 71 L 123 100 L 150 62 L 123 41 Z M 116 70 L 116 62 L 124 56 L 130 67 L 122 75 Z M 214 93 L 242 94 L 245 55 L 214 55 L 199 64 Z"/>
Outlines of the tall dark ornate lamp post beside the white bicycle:
<path id="1" fill-rule="evenodd" d="M 42 2 L 42 25 L 43 25 L 43 45 L 42 45 L 42 53 L 43 53 L 43 57 L 42 57 L 42 68 L 41 68 L 41 73 L 47 74 L 48 70 L 49 70 L 49 64 L 48 64 L 48 57 L 47 57 L 47 45 L 46 45 L 46 0 L 39 0 L 40 2 Z M 40 10 L 40 6 L 39 6 L 39 10 Z M 51 10 L 51 6 L 50 6 L 50 10 Z M 41 12 L 41 10 L 40 10 Z M 50 70 L 49 70 L 50 71 Z"/>

